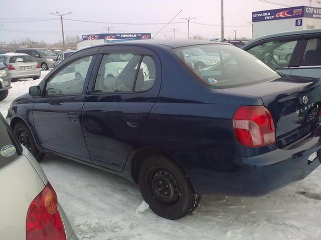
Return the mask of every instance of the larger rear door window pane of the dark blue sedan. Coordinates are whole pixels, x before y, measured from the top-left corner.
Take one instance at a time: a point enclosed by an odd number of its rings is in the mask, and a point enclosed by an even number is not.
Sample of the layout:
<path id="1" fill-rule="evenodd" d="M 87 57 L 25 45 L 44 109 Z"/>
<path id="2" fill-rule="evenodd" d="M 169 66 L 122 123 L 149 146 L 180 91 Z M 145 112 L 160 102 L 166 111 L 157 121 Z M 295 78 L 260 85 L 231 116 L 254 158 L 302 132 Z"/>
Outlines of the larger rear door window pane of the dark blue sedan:
<path id="1" fill-rule="evenodd" d="M 105 54 L 99 66 L 94 92 L 132 91 L 140 59 L 140 54 Z"/>

